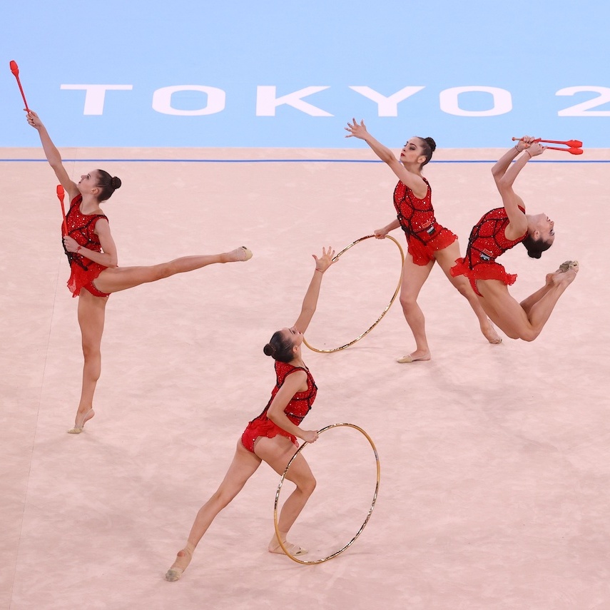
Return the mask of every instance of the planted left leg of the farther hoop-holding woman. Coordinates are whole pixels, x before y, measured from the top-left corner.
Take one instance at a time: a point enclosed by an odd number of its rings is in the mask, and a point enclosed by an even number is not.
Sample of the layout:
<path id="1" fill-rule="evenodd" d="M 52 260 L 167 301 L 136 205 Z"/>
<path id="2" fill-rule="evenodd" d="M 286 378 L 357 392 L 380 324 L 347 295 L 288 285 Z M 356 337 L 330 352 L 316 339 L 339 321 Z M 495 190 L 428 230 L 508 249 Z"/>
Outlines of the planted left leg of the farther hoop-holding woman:
<path id="1" fill-rule="evenodd" d="M 415 265 L 412 256 L 407 252 L 405 268 L 402 271 L 402 284 L 400 285 L 400 305 L 405 314 L 405 320 L 411 328 L 415 338 L 415 352 L 402 356 L 397 362 L 415 362 L 416 360 L 429 360 L 430 349 L 426 337 L 426 321 L 424 312 L 417 304 L 417 296 L 430 275 L 434 260 L 427 265 Z"/>

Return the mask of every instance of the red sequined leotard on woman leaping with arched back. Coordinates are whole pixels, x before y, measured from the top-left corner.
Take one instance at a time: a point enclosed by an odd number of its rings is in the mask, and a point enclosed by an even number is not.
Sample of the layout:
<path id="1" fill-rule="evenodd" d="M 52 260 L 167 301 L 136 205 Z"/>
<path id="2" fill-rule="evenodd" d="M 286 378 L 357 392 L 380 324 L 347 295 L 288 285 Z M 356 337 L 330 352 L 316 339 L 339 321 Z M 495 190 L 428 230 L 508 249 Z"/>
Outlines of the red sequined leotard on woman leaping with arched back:
<path id="1" fill-rule="evenodd" d="M 525 213 L 525 208 L 519 205 L 519 210 Z M 527 237 L 527 231 L 515 240 L 504 235 L 509 224 L 504 208 L 494 208 L 474 225 L 468 238 L 468 248 L 464 258 L 458 258 L 451 268 L 451 275 L 465 275 L 477 295 L 477 280 L 499 280 L 510 286 L 517 280 L 517 274 L 507 273 L 503 265 L 496 263 L 496 258 L 521 243 Z"/>

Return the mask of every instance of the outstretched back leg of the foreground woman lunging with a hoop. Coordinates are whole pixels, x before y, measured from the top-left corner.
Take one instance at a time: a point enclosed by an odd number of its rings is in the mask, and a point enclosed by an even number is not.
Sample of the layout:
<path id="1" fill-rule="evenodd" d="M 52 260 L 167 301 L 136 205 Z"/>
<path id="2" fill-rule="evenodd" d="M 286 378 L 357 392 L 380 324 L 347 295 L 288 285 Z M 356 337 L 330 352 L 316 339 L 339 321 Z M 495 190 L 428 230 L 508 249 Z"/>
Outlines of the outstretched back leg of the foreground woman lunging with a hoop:
<path id="1" fill-rule="evenodd" d="M 243 489 L 245 483 L 260 466 L 260 461 L 260 457 L 250 453 L 243 447 L 241 439 L 238 440 L 233 462 L 231 462 L 223 482 L 220 483 L 220 487 L 218 487 L 208 502 L 205 502 L 203 507 L 199 509 L 193 527 L 190 528 L 186 547 L 178 551 L 176 561 L 173 562 L 173 565 L 167 571 L 167 580 L 176 581 L 182 576 L 183 571 L 190 564 L 195 547 L 203 537 L 203 534 L 208 531 L 208 527 L 210 527 L 216 515 Z"/>

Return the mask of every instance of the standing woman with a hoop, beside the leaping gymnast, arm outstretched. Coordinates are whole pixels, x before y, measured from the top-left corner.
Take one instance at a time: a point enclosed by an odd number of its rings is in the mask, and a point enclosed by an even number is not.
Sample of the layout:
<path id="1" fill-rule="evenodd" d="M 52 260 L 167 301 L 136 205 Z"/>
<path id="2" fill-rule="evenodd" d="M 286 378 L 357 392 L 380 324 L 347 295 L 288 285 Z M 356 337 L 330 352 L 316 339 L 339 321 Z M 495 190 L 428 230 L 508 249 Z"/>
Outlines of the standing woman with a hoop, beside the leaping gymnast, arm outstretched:
<path id="1" fill-rule="evenodd" d="M 432 208 L 432 188 L 422 176 L 422 168 L 432 158 L 436 143 L 432 138 L 414 137 L 403 146 L 400 159 L 390 148 L 383 146 L 367 131 L 364 121 L 360 124 L 353 119 L 345 128 L 349 131 L 346 138 L 364 140 L 375 154 L 396 174 L 399 182 L 394 190 L 394 206 L 397 218 L 382 229 L 375 231 L 375 237 L 383 239 L 391 230 L 401 227 L 407 237 L 408 252 L 400 286 L 400 305 L 415 338 L 415 351 L 398 358 L 397 362 L 429 360 L 430 349 L 426 337 L 425 319 L 417 296 L 427 280 L 434 263 L 439 263 L 443 273 L 461 295 L 467 298 L 470 307 L 479 319 L 479 327 L 490 343 L 499 343 L 497 334 L 489 317 L 477 300 L 465 278 L 454 278 L 449 269 L 459 257 L 457 235 L 437 223 Z"/>

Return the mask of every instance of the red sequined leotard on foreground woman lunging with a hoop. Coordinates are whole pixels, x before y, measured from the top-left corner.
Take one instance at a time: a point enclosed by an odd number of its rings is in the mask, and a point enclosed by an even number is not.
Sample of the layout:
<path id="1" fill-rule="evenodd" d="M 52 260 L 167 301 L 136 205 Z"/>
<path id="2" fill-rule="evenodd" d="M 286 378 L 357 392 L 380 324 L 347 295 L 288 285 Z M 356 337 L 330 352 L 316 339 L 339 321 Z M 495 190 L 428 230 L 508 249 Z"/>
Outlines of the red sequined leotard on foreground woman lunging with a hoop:
<path id="1" fill-rule="evenodd" d="M 248 424 L 248 427 L 246 427 L 241 437 L 241 442 L 248 451 L 254 453 L 254 442 L 258 437 L 273 438 L 277 434 L 288 437 L 294 444 L 298 445 L 297 437 L 295 437 L 294 434 L 289 434 L 285 429 L 280 428 L 267 417 L 267 411 L 275 398 L 275 395 L 278 393 L 278 390 L 282 387 L 286 377 L 295 371 L 305 371 L 305 373 L 307 373 L 307 390 L 305 390 L 305 392 L 296 392 L 288 405 L 286 405 L 284 413 L 293 424 L 298 426 L 300 425 L 300 422 L 305 419 L 305 415 L 310 411 L 311 405 L 315 400 L 315 395 L 317 394 L 317 387 L 311 373 L 306 368 L 293 367 L 293 365 L 289 365 L 288 362 L 278 362 L 278 360 L 276 360 L 276 381 L 269 402 L 263 412 Z"/>

